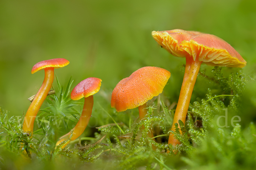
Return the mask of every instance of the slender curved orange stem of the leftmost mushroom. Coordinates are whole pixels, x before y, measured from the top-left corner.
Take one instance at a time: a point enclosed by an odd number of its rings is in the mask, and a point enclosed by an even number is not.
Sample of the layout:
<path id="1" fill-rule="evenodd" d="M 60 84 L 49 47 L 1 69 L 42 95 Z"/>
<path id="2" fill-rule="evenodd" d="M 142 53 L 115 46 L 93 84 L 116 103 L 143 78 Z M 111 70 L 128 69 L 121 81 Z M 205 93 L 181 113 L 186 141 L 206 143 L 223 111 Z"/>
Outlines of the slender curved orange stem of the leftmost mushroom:
<path id="1" fill-rule="evenodd" d="M 54 79 L 54 67 L 45 68 L 44 73 L 44 82 L 38 93 L 35 95 L 33 102 L 30 104 L 23 122 L 23 131 L 29 132 L 31 135 L 33 133 L 35 117 L 52 87 L 52 82 Z"/>

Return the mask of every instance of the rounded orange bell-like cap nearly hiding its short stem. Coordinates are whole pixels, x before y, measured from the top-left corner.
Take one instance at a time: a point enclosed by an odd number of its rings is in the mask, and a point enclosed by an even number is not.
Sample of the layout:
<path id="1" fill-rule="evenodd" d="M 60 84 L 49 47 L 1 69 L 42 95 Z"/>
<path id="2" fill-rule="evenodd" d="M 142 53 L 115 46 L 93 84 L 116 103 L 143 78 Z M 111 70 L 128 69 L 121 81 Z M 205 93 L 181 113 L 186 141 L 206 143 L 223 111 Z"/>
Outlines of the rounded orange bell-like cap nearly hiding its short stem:
<path id="1" fill-rule="evenodd" d="M 117 112 L 137 108 L 163 92 L 171 73 L 159 67 L 143 67 L 122 79 L 114 88 L 111 107 Z"/>

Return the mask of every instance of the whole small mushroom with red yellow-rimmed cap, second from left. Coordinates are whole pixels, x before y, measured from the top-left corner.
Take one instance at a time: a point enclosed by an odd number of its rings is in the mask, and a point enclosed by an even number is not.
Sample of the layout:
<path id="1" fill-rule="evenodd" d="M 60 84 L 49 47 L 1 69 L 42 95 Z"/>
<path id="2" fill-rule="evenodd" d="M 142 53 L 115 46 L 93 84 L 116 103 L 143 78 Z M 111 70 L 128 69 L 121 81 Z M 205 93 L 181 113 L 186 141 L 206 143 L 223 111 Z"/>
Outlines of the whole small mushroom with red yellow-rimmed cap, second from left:
<path id="1" fill-rule="evenodd" d="M 84 97 L 84 108 L 79 121 L 73 128 L 73 136 L 71 137 L 70 141 L 77 139 L 87 127 L 93 110 L 93 94 L 96 94 L 99 91 L 101 82 L 101 79 L 90 77 L 81 81 L 78 85 L 76 85 L 73 91 L 71 91 L 71 99 L 73 100 L 79 100 Z M 70 135 L 71 131 L 62 136 L 56 143 L 56 146 L 58 146 L 64 140 L 69 139 Z M 62 148 L 64 148 L 68 143 L 64 144 Z"/>

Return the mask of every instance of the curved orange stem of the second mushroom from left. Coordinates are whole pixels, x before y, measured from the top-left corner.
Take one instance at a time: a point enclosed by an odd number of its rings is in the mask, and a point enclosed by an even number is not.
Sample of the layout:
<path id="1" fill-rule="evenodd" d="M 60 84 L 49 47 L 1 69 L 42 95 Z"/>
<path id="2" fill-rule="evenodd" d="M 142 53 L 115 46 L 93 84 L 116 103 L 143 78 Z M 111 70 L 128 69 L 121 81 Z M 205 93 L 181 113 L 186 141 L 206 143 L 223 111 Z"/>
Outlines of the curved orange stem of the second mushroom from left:
<path id="1" fill-rule="evenodd" d="M 89 123 L 92 111 L 93 111 L 93 95 L 84 98 L 84 108 L 79 121 L 77 122 L 76 126 L 72 129 L 73 136 L 70 139 L 70 141 L 77 139 L 84 132 L 85 128 Z M 56 143 L 56 146 L 58 146 L 64 140 L 67 140 L 70 137 L 70 135 L 71 135 L 71 131 L 66 135 L 62 136 L 60 140 L 58 140 L 58 142 Z M 62 148 L 64 148 L 67 144 L 64 144 Z"/>

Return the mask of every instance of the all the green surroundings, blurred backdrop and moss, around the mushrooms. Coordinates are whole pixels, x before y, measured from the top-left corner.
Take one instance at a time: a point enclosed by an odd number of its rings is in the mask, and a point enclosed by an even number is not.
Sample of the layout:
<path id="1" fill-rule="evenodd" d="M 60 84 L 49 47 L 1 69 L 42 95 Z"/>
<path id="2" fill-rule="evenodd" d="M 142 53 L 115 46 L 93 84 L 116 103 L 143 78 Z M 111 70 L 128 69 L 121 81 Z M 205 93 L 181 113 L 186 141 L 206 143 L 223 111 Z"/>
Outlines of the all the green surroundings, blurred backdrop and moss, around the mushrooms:
<path id="1" fill-rule="evenodd" d="M 255 0 L 0 0 L 0 169 L 255 169 L 255 9 Z M 185 60 L 160 48 L 151 31 L 175 28 L 221 37 L 247 66 L 201 65 L 186 123 L 179 122 L 183 134 L 172 131 L 181 144 L 173 147 L 169 130 Z M 44 77 L 31 69 L 53 58 L 70 64 L 55 70 L 55 94 L 44 101 L 31 137 L 22 121 Z M 171 77 L 140 121 L 138 109 L 117 113 L 110 99 L 121 79 L 144 66 L 165 68 Z M 83 99 L 73 101 L 70 91 L 88 77 L 102 86 L 81 144 L 55 148 L 81 115 Z"/>

